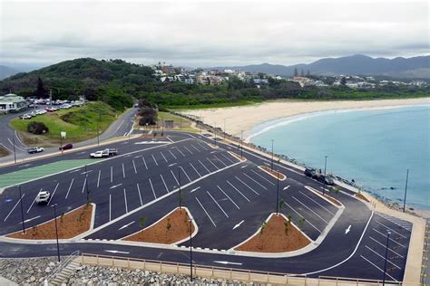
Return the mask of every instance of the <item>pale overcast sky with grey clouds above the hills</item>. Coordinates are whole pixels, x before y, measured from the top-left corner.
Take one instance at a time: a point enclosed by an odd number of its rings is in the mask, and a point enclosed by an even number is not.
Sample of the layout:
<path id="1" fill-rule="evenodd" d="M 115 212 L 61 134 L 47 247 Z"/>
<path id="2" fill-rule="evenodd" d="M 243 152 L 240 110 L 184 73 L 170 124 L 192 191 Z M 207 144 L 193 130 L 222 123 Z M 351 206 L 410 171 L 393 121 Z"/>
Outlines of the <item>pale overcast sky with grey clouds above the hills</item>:
<path id="1" fill-rule="evenodd" d="M 0 63 L 185 66 L 428 53 L 427 1 L 4 1 Z"/>

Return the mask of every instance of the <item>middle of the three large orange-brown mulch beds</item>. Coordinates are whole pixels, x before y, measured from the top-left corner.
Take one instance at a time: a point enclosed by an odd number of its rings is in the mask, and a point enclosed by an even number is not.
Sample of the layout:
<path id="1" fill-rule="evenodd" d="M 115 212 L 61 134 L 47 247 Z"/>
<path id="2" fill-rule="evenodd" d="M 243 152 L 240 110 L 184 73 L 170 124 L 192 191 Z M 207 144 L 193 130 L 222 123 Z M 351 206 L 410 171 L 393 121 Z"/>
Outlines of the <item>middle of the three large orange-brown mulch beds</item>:
<path id="1" fill-rule="evenodd" d="M 190 217 L 185 209 L 176 209 L 170 215 L 164 217 L 160 222 L 139 233 L 127 236 L 123 240 L 140 243 L 177 243 L 190 237 Z M 170 229 L 168 225 L 170 226 Z M 191 234 L 194 232 L 194 224 L 191 224 Z"/>

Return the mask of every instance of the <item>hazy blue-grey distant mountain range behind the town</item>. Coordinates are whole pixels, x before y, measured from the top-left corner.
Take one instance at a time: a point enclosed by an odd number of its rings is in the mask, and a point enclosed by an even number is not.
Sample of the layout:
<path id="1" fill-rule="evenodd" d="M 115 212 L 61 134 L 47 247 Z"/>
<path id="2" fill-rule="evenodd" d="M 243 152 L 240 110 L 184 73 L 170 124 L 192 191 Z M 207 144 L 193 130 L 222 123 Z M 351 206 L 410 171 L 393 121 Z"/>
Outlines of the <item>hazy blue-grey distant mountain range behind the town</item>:
<path id="1" fill-rule="evenodd" d="M 258 65 L 219 67 L 219 69 L 232 69 L 239 71 L 265 72 L 269 74 L 293 75 L 294 70 L 310 71 L 314 74 L 362 74 L 362 75 L 386 75 L 399 78 L 424 78 L 430 79 L 430 56 L 418 56 L 413 58 L 371 58 L 366 55 L 356 54 L 342 58 L 327 58 L 309 64 L 280 65 L 262 63 Z"/>

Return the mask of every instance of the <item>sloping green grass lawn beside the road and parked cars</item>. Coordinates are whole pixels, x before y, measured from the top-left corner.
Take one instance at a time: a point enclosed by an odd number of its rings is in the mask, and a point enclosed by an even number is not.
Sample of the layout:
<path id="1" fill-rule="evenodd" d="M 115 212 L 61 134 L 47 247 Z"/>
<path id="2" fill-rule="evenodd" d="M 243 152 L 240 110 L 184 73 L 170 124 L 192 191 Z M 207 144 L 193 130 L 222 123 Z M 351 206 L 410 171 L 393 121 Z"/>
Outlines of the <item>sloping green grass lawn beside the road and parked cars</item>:
<path id="1" fill-rule="evenodd" d="M 42 142 L 41 145 L 44 145 L 44 143 L 49 145 L 60 142 L 60 131 L 66 132 L 66 138 L 63 142 L 73 143 L 96 137 L 97 122 L 100 130 L 99 133 L 103 133 L 118 116 L 119 114 L 116 114 L 115 110 L 109 105 L 99 101 L 89 102 L 83 107 L 45 113 L 33 119 L 13 119 L 10 122 L 10 126 L 13 129 L 22 131 L 21 134 L 24 137 L 27 135 L 32 140 L 37 138 L 38 142 Z M 49 132 L 38 136 L 30 134 L 27 132 L 27 126 L 32 121 L 44 122 Z"/>

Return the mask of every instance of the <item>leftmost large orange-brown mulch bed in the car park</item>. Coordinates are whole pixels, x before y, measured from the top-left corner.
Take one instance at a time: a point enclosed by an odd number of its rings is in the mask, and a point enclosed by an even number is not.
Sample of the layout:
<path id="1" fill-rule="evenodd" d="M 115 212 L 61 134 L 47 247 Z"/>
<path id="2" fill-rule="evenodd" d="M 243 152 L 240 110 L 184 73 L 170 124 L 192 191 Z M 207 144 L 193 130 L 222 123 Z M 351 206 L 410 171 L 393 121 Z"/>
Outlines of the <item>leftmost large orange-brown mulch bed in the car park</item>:
<path id="1" fill-rule="evenodd" d="M 57 217 L 58 238 L 73 238 L 90 230 L 92 215 L 93 205 L 83 205 L 72 212 Z M 55 239 L 55 222 L 52 220 L 48 223 L 35 225 L 26 229 L 25 234 L 20 231 L 6 236 L 20 239 Z"/>

